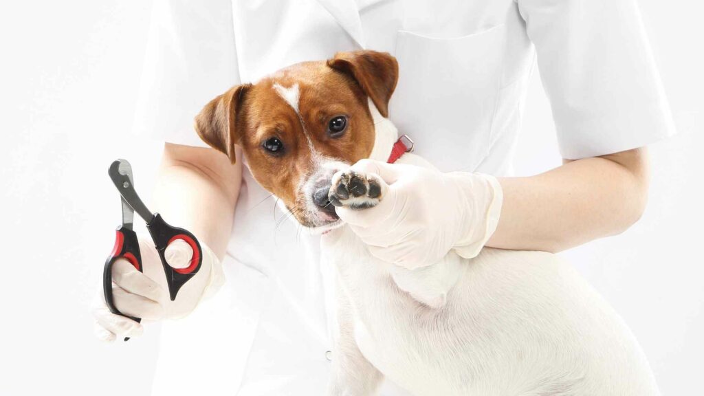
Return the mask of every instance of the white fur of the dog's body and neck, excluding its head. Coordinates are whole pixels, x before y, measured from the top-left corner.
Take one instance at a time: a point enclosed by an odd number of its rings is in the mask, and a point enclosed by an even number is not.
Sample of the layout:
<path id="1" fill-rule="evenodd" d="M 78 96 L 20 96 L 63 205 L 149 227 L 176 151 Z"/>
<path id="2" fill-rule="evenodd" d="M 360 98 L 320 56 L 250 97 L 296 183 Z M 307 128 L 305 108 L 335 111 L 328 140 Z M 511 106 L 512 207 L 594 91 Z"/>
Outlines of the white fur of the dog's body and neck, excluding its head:
<path id="1" fill-rule="evenodd" d="M 397 132 L 379 117 L 372 156 L 384 161 Z M 414 395 L 658 395 L 622 319 L 558 256 L 484 248 L 412 271 L 347 226 L 321 246 L 337 268 L 329 395 L 375 395 L 384 376 Z"/>

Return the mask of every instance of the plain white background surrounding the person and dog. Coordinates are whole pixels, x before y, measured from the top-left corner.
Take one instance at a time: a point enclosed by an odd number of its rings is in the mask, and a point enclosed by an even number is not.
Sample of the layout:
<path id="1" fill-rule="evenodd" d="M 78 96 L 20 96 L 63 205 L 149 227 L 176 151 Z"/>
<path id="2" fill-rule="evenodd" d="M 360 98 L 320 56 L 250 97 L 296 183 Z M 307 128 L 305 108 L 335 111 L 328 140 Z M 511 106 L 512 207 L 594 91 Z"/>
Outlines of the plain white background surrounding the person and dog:
<path id="1" fill-rule="evenodd" d="M 151 2 L 8 3 L 0 5 L 0 395 L 147 395 L 158 326 L 101 344 L 89 302 L 120 221 L 107 167 L 130 159 L 148 196 L 161 149 L 128 133 Z M 651 149 L 641 221 L 565 256 L 629 323 L 663 395 L 704 395 L 704 8 L 639 3 L 679 135 Z M 531 175 L 559 163 L 536 73 L 515 168 Z"/>

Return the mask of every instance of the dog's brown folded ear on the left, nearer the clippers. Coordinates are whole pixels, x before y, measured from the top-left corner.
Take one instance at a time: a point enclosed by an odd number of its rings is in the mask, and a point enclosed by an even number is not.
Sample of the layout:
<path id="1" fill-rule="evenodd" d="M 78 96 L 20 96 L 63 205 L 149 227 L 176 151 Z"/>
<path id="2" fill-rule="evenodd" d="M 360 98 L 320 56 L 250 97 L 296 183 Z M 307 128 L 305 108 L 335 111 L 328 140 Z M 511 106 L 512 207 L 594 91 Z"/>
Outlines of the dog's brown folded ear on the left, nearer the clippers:
<path id="1" fill-rule="evenodd" d="M 251 84 L 237 85 L 211 100 L 196 116 L 196 132 L 203 142 L 222 151 L 235 163 L 234 144 L 241 135 L 237 131 L 237 112 L 241 110 L 244 97 Z"/>

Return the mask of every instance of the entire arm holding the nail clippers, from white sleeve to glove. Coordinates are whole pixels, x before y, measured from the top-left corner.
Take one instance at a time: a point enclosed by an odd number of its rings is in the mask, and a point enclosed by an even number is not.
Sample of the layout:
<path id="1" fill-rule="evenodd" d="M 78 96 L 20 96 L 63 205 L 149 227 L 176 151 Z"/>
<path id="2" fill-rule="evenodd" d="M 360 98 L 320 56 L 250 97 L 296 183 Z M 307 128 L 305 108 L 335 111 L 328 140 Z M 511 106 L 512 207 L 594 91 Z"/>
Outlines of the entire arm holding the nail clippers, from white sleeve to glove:
<path id="1" fill-rule="evenodd" d="M 153 3 L 132 132 L 183 144 L 165 145 L 149 207 L 199 239 L 201 268 L 171 301 L 158 252 L 151 237 L 141 234 L 144 273 L 118 259 L 112 276 L 118 311 L 160 320 L 186 316 L 224 280 L 221 260 L 232 231 L 241 163 L 232 165 L 215 150 L 198 148 L 203 142 L 193 129 L 193 118 L 222 87 L 239 83 L 239 68 L 230 0 Z M 174 268 L 188 266 L 192 254 L 181 240 L 164 252 Z M 102 293 L 94 302 L 94 317 L 101 340 L 142 333 L 140 323 L 113 314 Z"/>

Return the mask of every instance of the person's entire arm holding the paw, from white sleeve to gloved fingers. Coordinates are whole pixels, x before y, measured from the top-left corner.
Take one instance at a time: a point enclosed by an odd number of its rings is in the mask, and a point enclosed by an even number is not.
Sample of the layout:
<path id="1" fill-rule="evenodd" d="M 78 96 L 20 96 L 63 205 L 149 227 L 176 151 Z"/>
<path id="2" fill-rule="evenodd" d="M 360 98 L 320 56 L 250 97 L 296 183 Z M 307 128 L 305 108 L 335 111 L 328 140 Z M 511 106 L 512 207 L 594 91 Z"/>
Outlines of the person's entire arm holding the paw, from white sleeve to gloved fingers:
<path id="1" fill-rule="evenodd" d="M 637 2 L 515 3 L 560 153 L 577 161 L 501 180 L 360 161 L 353 169 L 380 175 L 386 194 L 370 209 L 337 213 L 377 258 L 417 268 L 451 250 L 470 259 L 485 245 L 555 252 L 618 233 L 641 215 L 647 161 L 634 147 L 672 135 L 674 124 Z"/>

